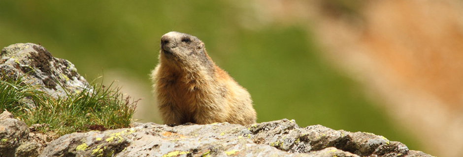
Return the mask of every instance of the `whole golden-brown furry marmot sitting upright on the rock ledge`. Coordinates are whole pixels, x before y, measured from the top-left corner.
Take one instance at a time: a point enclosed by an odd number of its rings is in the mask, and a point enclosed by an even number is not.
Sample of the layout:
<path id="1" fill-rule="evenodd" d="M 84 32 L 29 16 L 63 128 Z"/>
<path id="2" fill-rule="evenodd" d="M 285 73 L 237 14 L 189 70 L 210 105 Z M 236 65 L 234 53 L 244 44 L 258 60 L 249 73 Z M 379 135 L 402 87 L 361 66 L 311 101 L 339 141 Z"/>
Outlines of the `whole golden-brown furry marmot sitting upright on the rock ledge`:
<path id="1" fill-rule="evenodd" d="M 151 79 L 164 124 L 256 123 L 249 93 L 215 65 L 195 36 L 164 34 Z"/>

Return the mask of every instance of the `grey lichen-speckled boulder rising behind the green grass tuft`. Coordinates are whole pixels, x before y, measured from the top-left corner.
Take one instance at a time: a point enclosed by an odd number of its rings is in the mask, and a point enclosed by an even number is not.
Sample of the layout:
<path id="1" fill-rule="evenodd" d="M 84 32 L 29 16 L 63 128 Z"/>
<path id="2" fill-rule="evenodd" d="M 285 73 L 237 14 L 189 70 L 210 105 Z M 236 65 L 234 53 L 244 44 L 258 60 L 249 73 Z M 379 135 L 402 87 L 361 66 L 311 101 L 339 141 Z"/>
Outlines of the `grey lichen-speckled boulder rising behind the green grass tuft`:
<path id="1" fill-rule="evenodd" d="M 55 98 L 67 98 L 66 92 L 78 93 L 89 88 L 89 83 L 71 62 L 55 58 L 44 47 L 32 43 L 3 48 L 0 74 L 9 78 L 25 76 L 27 83 L 42 87 L 41 90 Z"/>

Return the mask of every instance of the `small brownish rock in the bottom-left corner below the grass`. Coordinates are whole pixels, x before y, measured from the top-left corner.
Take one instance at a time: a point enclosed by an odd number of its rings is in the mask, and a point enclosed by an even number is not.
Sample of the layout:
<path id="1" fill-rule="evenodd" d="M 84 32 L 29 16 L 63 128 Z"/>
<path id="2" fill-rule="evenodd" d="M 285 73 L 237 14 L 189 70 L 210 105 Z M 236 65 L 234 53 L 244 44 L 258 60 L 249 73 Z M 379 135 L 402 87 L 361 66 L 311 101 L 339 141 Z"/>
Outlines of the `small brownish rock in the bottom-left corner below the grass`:
<path id="1" fill-rule="evenodd" d="M 6 112 L 2 115 L 8 114 Z M 0 157 L 14 157 L 16 148 L 27 140 L 28 134 L 26 123 L 14 118 L 0 120 Z"/>

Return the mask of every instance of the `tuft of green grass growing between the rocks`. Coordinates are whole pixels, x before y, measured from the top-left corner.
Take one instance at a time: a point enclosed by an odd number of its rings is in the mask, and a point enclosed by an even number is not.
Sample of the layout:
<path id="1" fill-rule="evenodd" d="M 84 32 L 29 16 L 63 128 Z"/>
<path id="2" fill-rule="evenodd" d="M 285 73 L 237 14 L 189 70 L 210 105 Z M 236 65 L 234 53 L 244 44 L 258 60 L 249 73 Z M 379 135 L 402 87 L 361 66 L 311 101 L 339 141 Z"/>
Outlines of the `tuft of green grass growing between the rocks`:
<path id="1" fill-rule="evenodd" d="M 91 83 L 93 88 L 67 99 L 56 99 L 24 83 L 24 77 L 0 77 L 0 110 L 8 110 L 27 125 L 45 124 L 39 131 L 58 135 L 76 131 L 129 127 L 137 101 L 125 97 L 119 88 Z M 93 81 L 95 82 L 95 81 Z M 33 104 L 35 107 L 32 107 Z"/>

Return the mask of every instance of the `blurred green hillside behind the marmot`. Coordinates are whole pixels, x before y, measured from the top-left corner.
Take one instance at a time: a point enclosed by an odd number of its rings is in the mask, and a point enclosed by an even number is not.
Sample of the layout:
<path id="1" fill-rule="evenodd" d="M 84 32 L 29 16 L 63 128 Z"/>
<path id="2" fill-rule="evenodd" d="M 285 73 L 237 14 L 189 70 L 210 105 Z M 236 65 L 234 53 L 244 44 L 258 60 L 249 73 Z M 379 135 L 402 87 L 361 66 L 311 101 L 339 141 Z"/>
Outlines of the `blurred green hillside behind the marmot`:
<path id="1" fill-rule="evenodd" d="M 240 2 L 1 0 L 0 46 L 40 43 L 87 80 L 103 75 L 126 80 L 119 83 L 124 87 L 143 87 L 132 89 L 145 97 L 135 118 L 162 123 L 148 74 L 157 64 L 160 37 L 185 32 L 201 39 L 217 65 L 248 89 L 258 122 L 287 118 L 300 127 L 372 132 L 421 150 L 379 107 L 382 102 L 367 99 L 362 84 L 324 60 L 311 28 L 248 26 L 255 15 Z"/>

